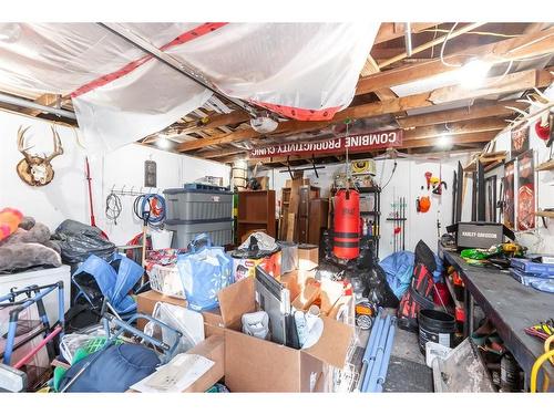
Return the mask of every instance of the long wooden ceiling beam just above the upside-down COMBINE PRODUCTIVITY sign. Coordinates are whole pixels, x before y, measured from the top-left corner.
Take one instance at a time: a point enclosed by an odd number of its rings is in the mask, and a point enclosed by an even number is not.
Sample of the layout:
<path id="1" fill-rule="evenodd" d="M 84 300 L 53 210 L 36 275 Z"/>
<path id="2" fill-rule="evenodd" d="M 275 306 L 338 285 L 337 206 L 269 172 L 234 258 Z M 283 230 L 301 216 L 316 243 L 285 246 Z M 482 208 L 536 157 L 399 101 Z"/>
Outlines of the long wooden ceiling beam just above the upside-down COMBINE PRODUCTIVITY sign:
<path id="1" fill-rule="evenodd" d="M 423 92 L 414 95 L 403 96 L 396 100 L 387 100 L 382 102 L 363 104 L 355 107 L 348 107 L 337 113 L 331 121 L 319 122 L 302 122 L 302 121 L 288 121 L 279 124 L 277 129 L 271 133 L 300 133 L 312 129 L 325 128 L 332 123 L 342 122 L 347 118 L 368 118 L 383 114 L 394 114 L 408 110 L 423 108 L 438 104 L 445 104 L 460 100 L 475 100 L 488 95 L 496 95 L 504 93 L 513 93 L 525 91 L 533 87 L 544 87 L 552 83 L 552 74 L 548 69 L 527 70 L 509 74 L 506 76 L 496 76 L 488 79 L 488 84 L 494 85 L 482 87 L 478 90 L 466 90 L 459 85 L 451 85 L 440 87 L 433 91 Z M 228 144 L 233 142 L 240 142 L 245 139 L 259 138 L 261 135 L 254 129 L 245 129 L 225 134 L 223 136 L 215 136 L 209 138 L 201 138 L 192 142 L 183 143 L 178 149 L 181 152 L 188 152 L 206 147 L 209 145 Z"/>

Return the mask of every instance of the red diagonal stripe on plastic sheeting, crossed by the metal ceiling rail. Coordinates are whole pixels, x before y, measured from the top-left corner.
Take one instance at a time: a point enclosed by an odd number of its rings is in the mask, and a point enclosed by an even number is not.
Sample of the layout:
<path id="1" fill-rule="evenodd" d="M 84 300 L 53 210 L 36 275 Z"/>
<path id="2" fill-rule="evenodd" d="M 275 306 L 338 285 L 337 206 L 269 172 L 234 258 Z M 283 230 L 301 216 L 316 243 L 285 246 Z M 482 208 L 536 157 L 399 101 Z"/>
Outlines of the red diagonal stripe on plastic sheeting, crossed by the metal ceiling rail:
<path id="1" fill-rule="evenodd" d="M 224 27 L 227 23 L 204 23 L 201 24 L 187 32 L 184 32 L 183 34 L 179 34 L 177 38 L 172 40 L 170 43 L 164 44 L 162 48 L 160 48 L 161 51 L 166 51 L 173 46 L 189 42 L 194 39 L 197 39 L 204 34 L 211 33 L 214 30 L 217 30 L 222 27 Z M 109 73 L 106 75 L 100 76 L 95 79 L 94 81 L 91 81 L 83 86 L 79 87 L 78 90 L 73 91 L 71 93 L 71 97 L 78 97 L 80 95 L 86 94 L 88 92 L 91 92 L 98 87 L 107 85 L 109 83 L 119 80 L 120 77 L 126 75 L 127 73 L 134 71 L 138 66 L 145 64 L 148 62 L 151 59 L 153 59 L 152 55 L 146 55 L 141 59 L 137 59 L 136 61 L 127 63 L 125 66 L 119 69 L 115 72 Z"/>

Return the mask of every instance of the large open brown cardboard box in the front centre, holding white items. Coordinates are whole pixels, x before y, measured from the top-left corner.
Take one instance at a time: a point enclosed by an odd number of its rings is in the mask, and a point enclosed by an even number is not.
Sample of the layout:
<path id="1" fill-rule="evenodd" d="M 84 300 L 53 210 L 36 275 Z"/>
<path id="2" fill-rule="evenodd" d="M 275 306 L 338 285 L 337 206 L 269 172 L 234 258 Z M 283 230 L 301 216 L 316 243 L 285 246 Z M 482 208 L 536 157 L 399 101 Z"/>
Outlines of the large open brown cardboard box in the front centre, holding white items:
<path id="1" fill-rule="evenodd" d="M 232 392 L 315 392 L 325 364 L 343 367 L 351 326 L 322 317 L 319 341 L 295 350 L 242 333 L 242 315 L 256 311 L 254 278 L 225 288 L 218 298 L 225 325 L 225 384 Z"/>

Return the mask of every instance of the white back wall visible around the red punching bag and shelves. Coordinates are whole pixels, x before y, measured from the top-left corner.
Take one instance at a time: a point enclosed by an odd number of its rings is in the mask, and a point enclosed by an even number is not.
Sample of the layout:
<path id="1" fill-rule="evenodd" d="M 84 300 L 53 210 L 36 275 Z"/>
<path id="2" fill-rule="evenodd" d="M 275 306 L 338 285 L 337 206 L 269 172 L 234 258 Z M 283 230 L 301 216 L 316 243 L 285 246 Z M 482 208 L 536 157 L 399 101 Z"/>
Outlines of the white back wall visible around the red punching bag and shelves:
<path id="1" fill-rule="evenodd" d="M 381 193 L 381 240 L 379 247 L 379 257 L 386 258 L 393 252 L 392 229 L 393 222 L 384 220 L 392 211 L 392 201 L 400 196 L 407 199 L 407 227 L 406 227 L 406 249 L 412 250 L 420 239 L 433 250 L 437 250 L 437 219 L 441 222 L 441 235 L 445 232 L 445 227 L 451 225 L 452 217 L 452 179 L 453 172 L 456 169 L 458 160 L 466 163 L 466 157 L 449 158 L 439 164 L 438 162 L 423 163 L 421 160 L 397 159 L 398 166 L 390 183 Z M 384 185 L 392 172 L 393 160 L 377 162 L 377 183 Z M 439 176 L 442 165 L 442 179 L 447 181 L 448 189 L 443 191 L 442 197 L 432 195 L 427 190 L 425 172 L 431 172 Z M 284 169 L 284 168 L 280 168 Z M 288 173 L 279 173 L 279 168 L 266 170 L 265 175 L 269 177 L 270 188 L 276 190 L 277 199 L 280 200 L 280 189 L 285 181 L 290 178 Z M 304 173 L 304 177 L 309 178 L 315 186 L 321 188 L 321 196 L 328 197 L 334 177 L 338 173 L 345 172 L 343 164 L 327 165 L 325 169 L 318 170 L 319 178 L 311 170 Z M 258 172 L 258 176 L 264 173 Z M 424 186 L 421 190 L 421 186 Z M 471 188 L 469 188 L 471 190 Z M 418 196 L 431 195 L 431 209 L 425 214 L 418 214 L 416 210 L 416 198 Z M 470 201 L 471 203 L 471 201 Z M 471 206 L 471 205 L 470 205 Z"/>

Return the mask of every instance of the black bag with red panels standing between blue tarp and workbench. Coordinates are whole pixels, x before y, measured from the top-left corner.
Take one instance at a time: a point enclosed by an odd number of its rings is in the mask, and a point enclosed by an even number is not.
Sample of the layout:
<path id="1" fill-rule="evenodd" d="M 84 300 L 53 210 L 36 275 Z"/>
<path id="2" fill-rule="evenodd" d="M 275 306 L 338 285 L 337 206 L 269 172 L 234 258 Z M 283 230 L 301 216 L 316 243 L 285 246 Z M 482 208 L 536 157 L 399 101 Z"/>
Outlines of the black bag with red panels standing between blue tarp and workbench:
<path id="1" fill-rule="evenodd" d="M 420 310 L 433 309 L 434 280 L 437 269 L 431 249 L 420 240 L 416 246 L 416 259 L 410 288 L 402 297 L 398 308 L 398 326 L 403 330 L 418 331 L 418 313 Z"/>

